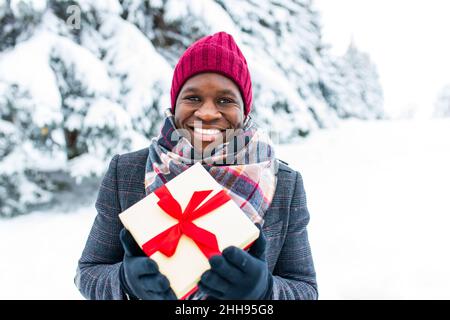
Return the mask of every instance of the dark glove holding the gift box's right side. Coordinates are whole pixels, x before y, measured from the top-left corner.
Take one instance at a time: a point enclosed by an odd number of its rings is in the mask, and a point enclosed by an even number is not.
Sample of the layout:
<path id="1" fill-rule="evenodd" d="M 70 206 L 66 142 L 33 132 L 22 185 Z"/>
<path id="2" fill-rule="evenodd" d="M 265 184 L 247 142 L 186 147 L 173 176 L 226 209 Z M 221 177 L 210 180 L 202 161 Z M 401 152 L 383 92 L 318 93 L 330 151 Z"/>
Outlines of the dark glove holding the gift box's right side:
<path id="1" fill-rule="evenodd" d="M 221 300 L 269 299 L 273 278 L 266 261 L 266 238 L 260 236 L 248 252 L 228 247 L 209 259 L 211 269 L 203 273 L 198 287 Z"/>

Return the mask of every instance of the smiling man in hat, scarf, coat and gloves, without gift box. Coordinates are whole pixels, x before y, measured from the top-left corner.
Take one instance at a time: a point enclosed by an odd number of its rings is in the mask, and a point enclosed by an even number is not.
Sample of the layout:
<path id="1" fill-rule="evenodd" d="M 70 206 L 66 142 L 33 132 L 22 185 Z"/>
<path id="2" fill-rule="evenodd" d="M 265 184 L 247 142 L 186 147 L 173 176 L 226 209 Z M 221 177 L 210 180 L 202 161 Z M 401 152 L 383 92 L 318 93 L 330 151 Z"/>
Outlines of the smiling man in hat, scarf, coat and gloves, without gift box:
<path id="1" fill-rule="evenodd" d="M 228 247 L 189 299 L 317 299 L 301 175 L 275 158 L 252 120 L 247 62 L 225 32 L 192 44 L 174 70 L 171 108 L 158 137 L 115 155 L 98 194 L 97 217 L 75 283 L 89 299 L 174 299 L 168 279 L 118 215 L 201 161 L 261 229 L 248 251 Z"/>

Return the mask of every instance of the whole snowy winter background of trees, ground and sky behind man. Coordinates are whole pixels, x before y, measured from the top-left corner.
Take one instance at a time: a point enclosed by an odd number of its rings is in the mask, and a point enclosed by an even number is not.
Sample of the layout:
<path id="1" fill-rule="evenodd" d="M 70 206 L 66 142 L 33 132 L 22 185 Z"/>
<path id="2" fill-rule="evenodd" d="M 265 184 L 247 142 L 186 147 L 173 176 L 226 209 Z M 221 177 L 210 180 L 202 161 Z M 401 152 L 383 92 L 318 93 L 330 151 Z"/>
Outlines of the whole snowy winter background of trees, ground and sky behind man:
<path id="1" fill-rule="evenodd" d="M 319 298 L 449 299 L 448 13 L 0 0 L 0 299 L 82 298 L 73 277 L 110 159 L 148 145 L 179 55 L 220 30 L 249 62 L 256 120 L 302 173 Z"/>

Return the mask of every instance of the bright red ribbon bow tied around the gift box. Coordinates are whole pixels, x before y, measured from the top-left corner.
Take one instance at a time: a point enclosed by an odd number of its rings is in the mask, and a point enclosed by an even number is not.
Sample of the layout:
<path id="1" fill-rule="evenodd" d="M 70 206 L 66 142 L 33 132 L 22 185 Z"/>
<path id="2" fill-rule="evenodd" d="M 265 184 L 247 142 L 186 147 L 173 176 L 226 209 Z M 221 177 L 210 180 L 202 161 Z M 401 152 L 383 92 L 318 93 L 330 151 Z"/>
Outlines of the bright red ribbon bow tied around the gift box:
<path id="1" fill-rule="evenodd" d="M 194 240 L 208 259 L 212 255 L 220 254 L 216 236 L 192 223 L 195 219 L 210 213 L 231 199 L 224 190 L 221 190 L 201 207 L 197 208 L 211 192 L 212 190 L 195 191 L 183 212 L 180 204 L 174 199 L 165 185 L 156 189 L 154 193 L 159 198 L 159 207 L 179 222 L 150 239 L 142 246 L 147 256 L 150 257 L 156 251 L 160 251 L 167 257 L 171 257 L 175 253 L 178 242 L 183 234 Z"/>

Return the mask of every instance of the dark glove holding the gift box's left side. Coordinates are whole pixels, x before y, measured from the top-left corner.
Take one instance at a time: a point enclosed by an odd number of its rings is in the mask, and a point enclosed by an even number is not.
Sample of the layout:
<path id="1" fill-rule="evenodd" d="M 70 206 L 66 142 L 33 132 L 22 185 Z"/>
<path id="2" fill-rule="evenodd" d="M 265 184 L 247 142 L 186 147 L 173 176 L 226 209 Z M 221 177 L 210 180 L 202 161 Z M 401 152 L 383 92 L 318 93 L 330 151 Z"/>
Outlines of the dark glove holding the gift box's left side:
<path id="1" fill-rule="evenodd" d="M 125 255 L 120 266 L 120 284 L 133 299 L 176 300 L 169 280 L 158 270 L 156 262 L 145 255 L 125 228 L 120 231 Z"/>

